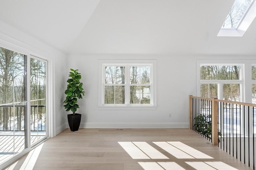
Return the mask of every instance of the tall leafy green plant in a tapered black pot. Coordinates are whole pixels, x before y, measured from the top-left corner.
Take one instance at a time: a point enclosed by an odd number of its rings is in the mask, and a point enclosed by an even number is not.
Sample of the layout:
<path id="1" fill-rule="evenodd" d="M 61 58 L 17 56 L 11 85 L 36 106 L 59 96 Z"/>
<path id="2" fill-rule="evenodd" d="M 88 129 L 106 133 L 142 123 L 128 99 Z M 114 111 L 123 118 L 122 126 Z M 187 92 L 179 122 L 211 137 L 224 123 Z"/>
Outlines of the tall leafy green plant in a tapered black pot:
<path id="1" fill-rule="evenodd" d="M 77 99 L 82 99 L 84 96 L 84 89 L 82 88 L 83 83 L 80 82 L 81 74 L 78 70 L 70 69 L 69 77 L 67 82 L 67 90 L 65 90 L 66 100 L 63 102 L 66 111 L 72 111 L 72 114 L 68 114 L 68 125 L 71 131 L 78 131 L 81 114 L 76 113 L 79 108 Z"/>

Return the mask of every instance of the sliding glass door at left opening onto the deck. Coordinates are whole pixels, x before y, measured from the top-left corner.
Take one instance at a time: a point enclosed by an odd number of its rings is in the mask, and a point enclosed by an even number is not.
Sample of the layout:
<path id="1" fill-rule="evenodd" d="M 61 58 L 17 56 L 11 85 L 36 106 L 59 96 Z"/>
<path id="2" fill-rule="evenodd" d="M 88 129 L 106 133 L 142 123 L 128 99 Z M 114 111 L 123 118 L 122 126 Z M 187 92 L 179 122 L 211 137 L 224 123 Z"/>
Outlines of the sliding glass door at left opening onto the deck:
<path id="1" fill-rule="evenodd" d="M 48 137 L 47 61 L 0 47 L 0 169 Z"/>

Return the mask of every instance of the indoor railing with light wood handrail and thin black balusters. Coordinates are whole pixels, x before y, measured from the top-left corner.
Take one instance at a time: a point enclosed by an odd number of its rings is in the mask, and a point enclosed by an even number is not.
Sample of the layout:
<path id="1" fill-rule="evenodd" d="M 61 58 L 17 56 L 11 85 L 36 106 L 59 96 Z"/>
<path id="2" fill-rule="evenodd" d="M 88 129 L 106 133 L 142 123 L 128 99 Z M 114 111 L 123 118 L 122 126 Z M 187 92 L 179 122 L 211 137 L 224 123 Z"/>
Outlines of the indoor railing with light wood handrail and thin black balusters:
<path id="1" fill-rule="evenodd" d="M 189 96 L 190 129 L 255 169 L 256 104 Z"/>

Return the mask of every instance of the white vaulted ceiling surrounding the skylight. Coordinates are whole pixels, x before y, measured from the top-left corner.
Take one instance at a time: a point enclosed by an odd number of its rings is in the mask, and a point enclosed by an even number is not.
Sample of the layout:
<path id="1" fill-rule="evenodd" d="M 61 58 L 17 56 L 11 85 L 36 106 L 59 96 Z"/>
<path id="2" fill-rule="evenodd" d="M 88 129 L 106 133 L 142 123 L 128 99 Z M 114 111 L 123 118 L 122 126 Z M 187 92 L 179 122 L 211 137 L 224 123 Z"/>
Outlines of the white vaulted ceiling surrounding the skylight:
<path id="1" fill-rule="evenodd" d="M 217 37 L 233 2 L 0 0 L 0 20 L 67 54 L 256 55 L 256 19 Z"/>

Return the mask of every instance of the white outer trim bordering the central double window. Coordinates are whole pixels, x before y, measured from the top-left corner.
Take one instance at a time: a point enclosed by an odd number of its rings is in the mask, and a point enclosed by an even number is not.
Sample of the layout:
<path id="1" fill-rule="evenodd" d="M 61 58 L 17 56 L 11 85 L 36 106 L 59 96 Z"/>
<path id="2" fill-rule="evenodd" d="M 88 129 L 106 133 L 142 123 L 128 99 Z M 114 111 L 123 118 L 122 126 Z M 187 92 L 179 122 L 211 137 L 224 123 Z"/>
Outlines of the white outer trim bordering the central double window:
<path id="1" fill-rule="evenodd" d="M 150 95 L 151 95 L 151 104 L 147 105 L 132 105 L 129 104 L 129 96 L 125 96 L 125 104 L 124 105 L 104 105 L 104 66 L 128 66 L 128 65 L 138 65 L 138 66 L 148 66 L 150 65 Z M 98 61 L 98 109 L 120 109 L 120 110 L 144 110 L 144 109 L 156 109 L 156 61 L 155 60 L 99 60 Z M 129 70 L 125 70 L 125 75 L 129 75 Z M 128 86 L 126 86 L 127 88 Z M 127 90 L 127 89 L 126 89 Z"/>

